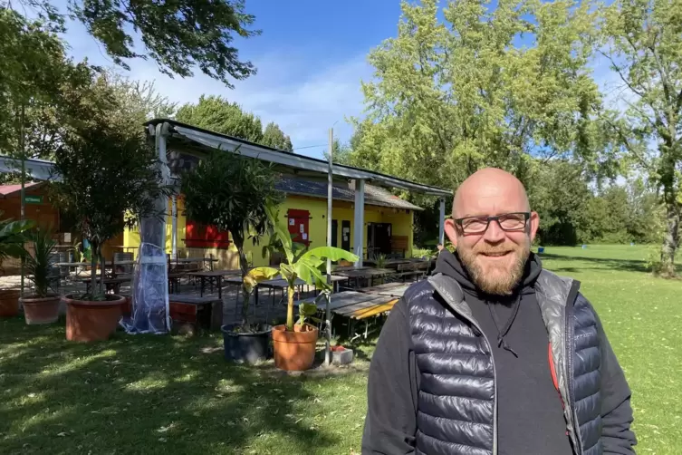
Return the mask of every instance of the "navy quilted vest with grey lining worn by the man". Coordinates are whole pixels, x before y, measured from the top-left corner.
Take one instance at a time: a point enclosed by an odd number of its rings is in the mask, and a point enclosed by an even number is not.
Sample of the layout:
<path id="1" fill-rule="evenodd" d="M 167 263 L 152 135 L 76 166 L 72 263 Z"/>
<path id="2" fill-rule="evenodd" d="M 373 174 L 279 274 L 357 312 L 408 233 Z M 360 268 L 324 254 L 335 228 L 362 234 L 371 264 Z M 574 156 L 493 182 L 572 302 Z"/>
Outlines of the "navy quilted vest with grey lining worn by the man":
<path id="1" fill-rule="evenodd" d="M 537 299 L 573 447 L 578 454 L 599 455 L 600 341 L 591 305 L 573 285 L 543 270 Z M 438 274 L 410 286 L 404 298 L 421 373 L 417 453 L 495 455 L 495 365 L 461 288 Z"/>

